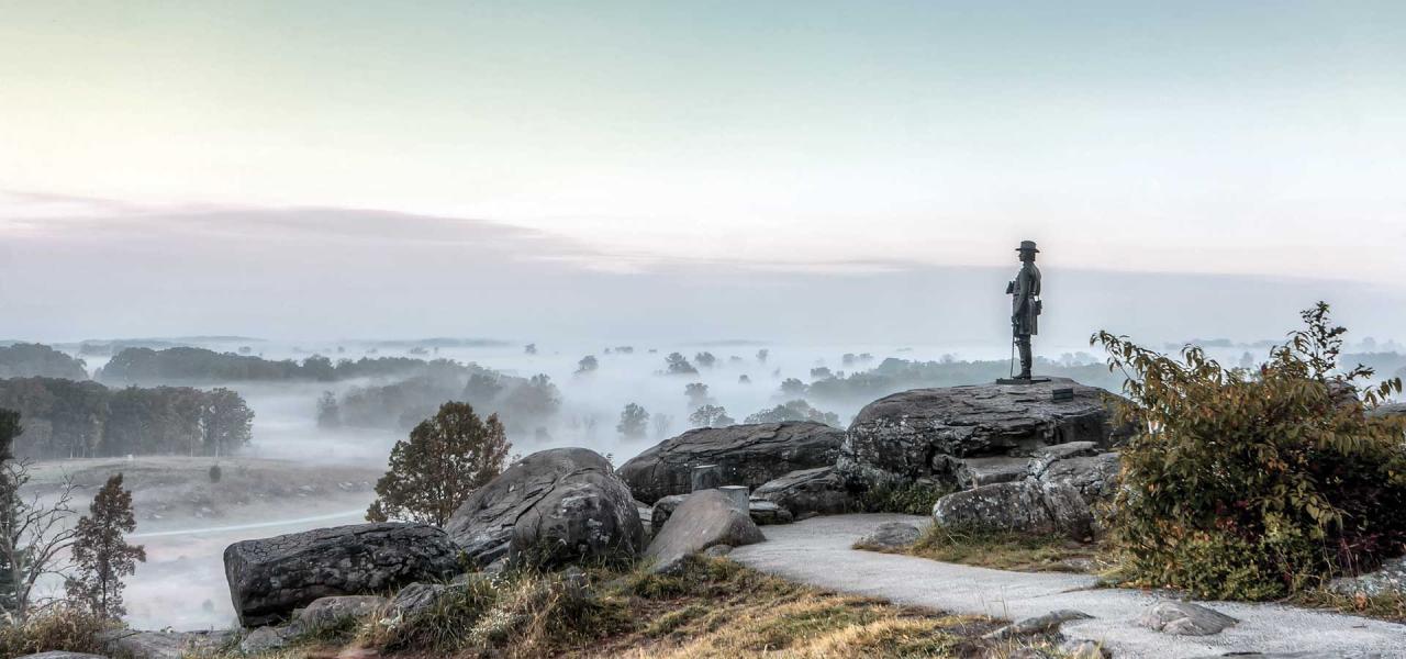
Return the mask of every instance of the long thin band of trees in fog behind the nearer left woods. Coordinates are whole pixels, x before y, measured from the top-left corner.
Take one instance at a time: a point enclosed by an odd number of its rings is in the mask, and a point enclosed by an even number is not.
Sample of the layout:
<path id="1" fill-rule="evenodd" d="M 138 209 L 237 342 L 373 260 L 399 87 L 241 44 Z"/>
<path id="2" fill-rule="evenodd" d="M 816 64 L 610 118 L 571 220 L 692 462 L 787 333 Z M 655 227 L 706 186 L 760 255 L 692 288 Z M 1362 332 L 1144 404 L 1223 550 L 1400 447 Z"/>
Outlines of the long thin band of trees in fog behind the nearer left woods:
<path id="1" fill-rule="evenodd" d="M 316 381 L 333 382 L 354 378 L 384 378 L 434 371 L 468 372 L 470 367 L 451 360 L 416 360 L 411 357 L 361 357 L 332 361 L 312 355 L 305 360 L 266 360 L 263 357 L 214 350 L 174 347 L 166 350 L 127 348 L 112 357 L 97 379 L 104 382 L 256 382 Z"/>

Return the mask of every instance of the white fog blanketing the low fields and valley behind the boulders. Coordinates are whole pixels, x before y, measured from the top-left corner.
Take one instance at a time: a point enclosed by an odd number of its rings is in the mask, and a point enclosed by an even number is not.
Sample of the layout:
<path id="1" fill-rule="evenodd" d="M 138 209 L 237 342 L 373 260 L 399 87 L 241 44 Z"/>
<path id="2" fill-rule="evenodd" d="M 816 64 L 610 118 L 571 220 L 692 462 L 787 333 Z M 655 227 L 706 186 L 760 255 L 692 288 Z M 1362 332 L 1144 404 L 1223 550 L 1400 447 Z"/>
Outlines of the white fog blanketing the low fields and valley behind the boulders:
<path id="1" fill-rule="evenodd" d="M 252 355 L 266 360 L 302 361 L 312 354 L 340 358 L 413 357 L 447 358 L 478 364 L 503 377 L 550 377 L 560 391 L 560 409 L 543 419 L 509 424 L 512 454 L 527 455 L 544 448 L 579 445 L 609 455 L 616 465 L 690 427 L 689 413 L 700 400 L 685 393 L 689 384 L 707 385 L 707 400 L 723 406 L 728 416 L 742 423 L 748 415 L 779 403 L 806 399 L 815 409 L 834 413 L 845 427 L 866 403 L 889 391 L 907 389 L 922 382 L 877 385 L 860 395 L 783 393 L 782 382 L 796 378 L 807 385 L 828 368 L 835 375 L 872 371 L 886 358 L 917 363 L 949 363 L 952 372 L 942 384 L 976 384 L 1004 375 L 1004 363 L 981 365 L 972 375 L 963 360 L 1004 360 L 1004 346 L 778 346 L 756 341 L 703 344 L 636 344 L 621 351 L 605 346 L 536 346 L 527 354 L 524 344 L 484 344 L 433 350 L 411 341 L 404 346 L 363 341 L 257 341 Z M 240 346 L 209 341 L 202 347 L 235 353 Z M 651 351 L 652 350 L 652 351 Z M 765 361 L 758 357 L 766 350 Z M 1080 351 L 1084 351 L 1080 354 Z M 1085 384 L 1116 389 L 1119 381 L 1107 372 L 1087 347 L 1040 346 L 1040 353 L 1071 368 Z M 1234 360 L 1246 350 L 1263 354 L 1264 348 L 1218 346 L 1211 348 L 1222 358 Z M 716 357 L 711 367 L 695 364 L 696 374 L 666 375 L 665 355 L 681 353 L 696 361 L 700 353 Z M 869 354 L 868 358 L 860 357 Z M 844 355 L 852 355 L 845 364 Z M 585 355 L 596 358 L 596 370 L 578 372 Z M 107 358 L 84 355 L 90 372 L 97 372 Z M 1384 364 L 1386 365 L 1386 364 Z M 1396 364 L 1392 363 L 1392 367 Z M 942 374 L 946 367 L 932 372 Z M 993 372 L 994 368 L 994 372 Z M 1059 368 L 1045 363 L 1045 368 Z M 747 377 L 749 382 L 741 381 Z M 931 375 L 931 372 L 929 372 Z M 962 381 L 970 378 L 972 381 Z M 75 507 L 86 511 L 87 502 L 114 472 L 122 472 L 134 493 L 138 528 L 132 542 L 146 547 L 148 562 L 128 580 L 128 624 L 135 628 L 207 629 L 233 622 L 233 610 L 224 575 L 222 552 L 231 542 L 305 531 L 319 527 L 363 521 L 366 507 L 375 499 L 374 483 L 385 471 L 387 457 L 405 427 L 319 427 L 318 399 L 332 392 L 343 399 L 357 388 L 395 384 L 399 378 L 356 378 L 346 381 L 260 381 L 260 382 L 149 382 L 191 385 L 202 389 L 235 389 L 254 413 L 253 437 L 233 457 L 135 457 L 101 459 L 42 461 L 35 464 L 31 490 L 51 496 L 67 475 L 73 479 Z M 112 385 L 115 386 L 115 385 Z M 457 398 L 457 396 L 454 396 Z M 444 400 L 425 400 L 437 406 Z M 652 417 L 644 437 L 627 440 L 616 430 L 620 410 L 627 403 L 645 407 Z M 209 469 L 219 465 L 219 481 Z M 51 589 L 60 585 L 49 583 Z"/>

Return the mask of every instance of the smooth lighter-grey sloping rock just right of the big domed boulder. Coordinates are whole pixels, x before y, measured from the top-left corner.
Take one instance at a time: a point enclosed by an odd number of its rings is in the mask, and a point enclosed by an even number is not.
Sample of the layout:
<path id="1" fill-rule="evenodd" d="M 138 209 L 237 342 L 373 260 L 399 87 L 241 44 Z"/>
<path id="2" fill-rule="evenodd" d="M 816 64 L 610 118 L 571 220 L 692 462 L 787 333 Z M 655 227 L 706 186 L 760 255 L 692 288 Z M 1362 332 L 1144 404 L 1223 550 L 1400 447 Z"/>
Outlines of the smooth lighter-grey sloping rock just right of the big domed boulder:
<path id="1" fill-rule="evenodd" d="M 716 545 L 742 547 L 766 540 L 751 516 L 716 489 L 689 495 L 650 542 L 644 558 L 668 570 L 689 554 Z"/>

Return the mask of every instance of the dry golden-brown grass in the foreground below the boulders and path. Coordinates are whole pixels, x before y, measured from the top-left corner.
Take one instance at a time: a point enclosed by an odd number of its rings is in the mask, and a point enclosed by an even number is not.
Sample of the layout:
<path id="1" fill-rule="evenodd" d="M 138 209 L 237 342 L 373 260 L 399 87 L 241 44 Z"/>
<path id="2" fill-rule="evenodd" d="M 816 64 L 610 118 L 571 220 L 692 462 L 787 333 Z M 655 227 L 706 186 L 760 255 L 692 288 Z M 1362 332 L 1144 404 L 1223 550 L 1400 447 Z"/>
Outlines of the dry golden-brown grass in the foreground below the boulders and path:
<path id="1" fill-rule="evenodd" d="M 564 587 L 560 575 L 509 576 L 416 620 L 387 627 L 374 615 L 342 638 L 307 638 L 264 656 L 1000 659 L 1052 649 L 1040 638 L 983 641 L 1000 625 L 994 620 L 821 592 L 725 559 L 693 558 L 668 576 L 589 576 L 589 596 Z"/>

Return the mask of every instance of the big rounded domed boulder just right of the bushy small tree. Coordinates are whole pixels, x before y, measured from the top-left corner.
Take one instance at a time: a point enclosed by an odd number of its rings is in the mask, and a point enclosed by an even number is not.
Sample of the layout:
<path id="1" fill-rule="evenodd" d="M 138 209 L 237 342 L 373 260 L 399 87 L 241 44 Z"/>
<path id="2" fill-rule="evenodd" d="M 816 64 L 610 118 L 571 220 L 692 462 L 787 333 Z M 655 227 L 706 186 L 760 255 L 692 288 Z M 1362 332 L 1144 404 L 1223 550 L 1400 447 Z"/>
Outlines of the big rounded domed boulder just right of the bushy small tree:
<path id="1" fill-rule="evenodd" d="M 644 526 L 630 489 L 586 448 L 534 452 L 470 495 L 444 527 L 477 565 L 634 558 Z"/>

